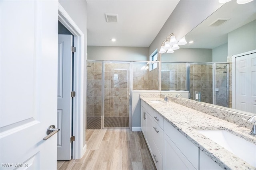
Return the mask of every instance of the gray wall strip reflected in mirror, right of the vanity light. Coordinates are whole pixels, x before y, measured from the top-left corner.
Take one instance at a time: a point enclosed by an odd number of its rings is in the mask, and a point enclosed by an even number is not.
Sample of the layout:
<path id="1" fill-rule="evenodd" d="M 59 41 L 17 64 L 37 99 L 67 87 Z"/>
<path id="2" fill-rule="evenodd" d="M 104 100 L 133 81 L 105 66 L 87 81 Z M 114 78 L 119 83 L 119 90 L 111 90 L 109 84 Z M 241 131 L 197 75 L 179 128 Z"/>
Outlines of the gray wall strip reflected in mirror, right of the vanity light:
<path id="1" fill-rule="evenodd" d="M 161 61 L 212 62 L 212 49 L 180 48 L 174 53 L 162 54 Z"/>

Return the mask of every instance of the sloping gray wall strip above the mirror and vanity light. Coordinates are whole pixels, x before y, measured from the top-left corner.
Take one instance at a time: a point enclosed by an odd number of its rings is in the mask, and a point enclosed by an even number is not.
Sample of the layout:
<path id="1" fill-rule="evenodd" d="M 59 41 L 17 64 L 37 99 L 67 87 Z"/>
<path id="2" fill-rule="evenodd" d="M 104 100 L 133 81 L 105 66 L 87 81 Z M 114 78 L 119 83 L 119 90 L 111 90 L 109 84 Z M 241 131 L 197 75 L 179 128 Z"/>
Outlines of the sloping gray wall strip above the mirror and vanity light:
<path id="1" fill-rule="evenodd" d="M 177 40 L 181 39 L 222 5 L 217 0 L 180 0 L 151 43 L 149 53 L 155 49 L 160 50 L 162 42 L 171 33 L 174 33 Z"/>

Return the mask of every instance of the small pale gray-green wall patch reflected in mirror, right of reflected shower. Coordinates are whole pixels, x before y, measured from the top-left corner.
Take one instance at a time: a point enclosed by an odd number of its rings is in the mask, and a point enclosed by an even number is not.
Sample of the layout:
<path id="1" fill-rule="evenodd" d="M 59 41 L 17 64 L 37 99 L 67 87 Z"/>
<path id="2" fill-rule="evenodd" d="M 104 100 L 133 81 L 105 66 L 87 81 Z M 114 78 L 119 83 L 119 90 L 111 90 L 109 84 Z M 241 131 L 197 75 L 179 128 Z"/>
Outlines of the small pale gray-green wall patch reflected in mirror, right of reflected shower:
<path id="1" fill-rule="evenodd" d="M 228 43 L 212 49 L 212 62 L 227 62 Z"/>

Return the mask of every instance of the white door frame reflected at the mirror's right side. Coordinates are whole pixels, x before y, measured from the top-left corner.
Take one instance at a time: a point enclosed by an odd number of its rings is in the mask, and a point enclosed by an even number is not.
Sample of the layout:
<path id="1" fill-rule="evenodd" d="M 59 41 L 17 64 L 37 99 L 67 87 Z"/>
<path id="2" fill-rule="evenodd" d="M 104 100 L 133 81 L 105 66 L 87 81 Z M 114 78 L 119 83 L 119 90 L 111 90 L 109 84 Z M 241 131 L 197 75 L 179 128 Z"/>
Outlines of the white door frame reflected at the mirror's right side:
<path id="1" fill-rule="evenodd" d="M 245 53 L 237 55 L 232 55 L 232 109 L 235 109 L 236 106 L 236 57 L 241 57 L 252 53 L 256 53 L 256 50 L 247 51 Z"/>

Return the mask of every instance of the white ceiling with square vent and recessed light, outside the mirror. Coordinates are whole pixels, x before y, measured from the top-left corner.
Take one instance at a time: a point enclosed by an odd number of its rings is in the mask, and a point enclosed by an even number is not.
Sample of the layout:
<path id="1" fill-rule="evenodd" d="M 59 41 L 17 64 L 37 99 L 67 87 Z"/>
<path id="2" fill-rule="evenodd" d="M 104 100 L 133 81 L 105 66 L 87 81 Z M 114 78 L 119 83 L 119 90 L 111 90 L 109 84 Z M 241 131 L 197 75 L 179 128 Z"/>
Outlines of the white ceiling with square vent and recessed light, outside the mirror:
<path id="1" fill-rule="evenodd" d="M 180 0 L 86 1 L 87 45 L 149 47 Z M 118 14 L 118 22 L 105 14 Z"/>

